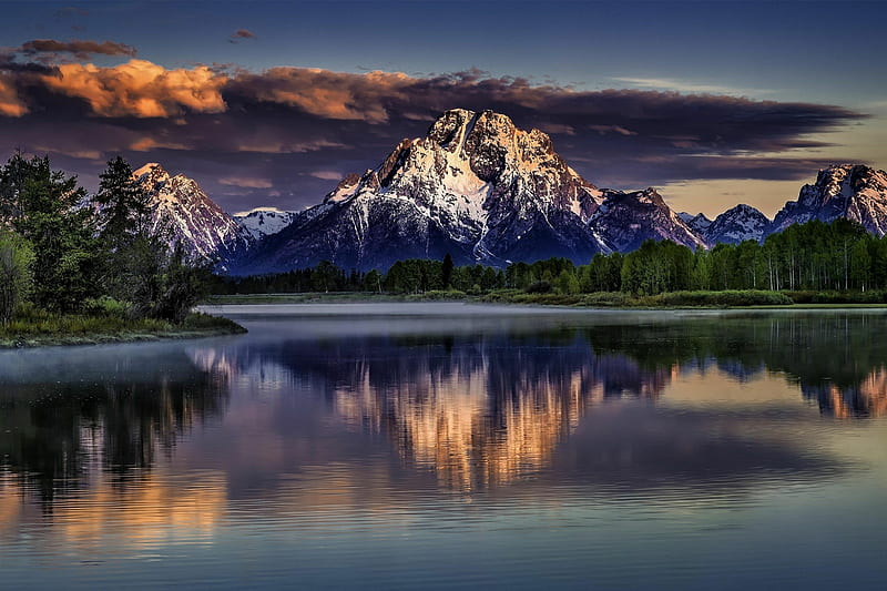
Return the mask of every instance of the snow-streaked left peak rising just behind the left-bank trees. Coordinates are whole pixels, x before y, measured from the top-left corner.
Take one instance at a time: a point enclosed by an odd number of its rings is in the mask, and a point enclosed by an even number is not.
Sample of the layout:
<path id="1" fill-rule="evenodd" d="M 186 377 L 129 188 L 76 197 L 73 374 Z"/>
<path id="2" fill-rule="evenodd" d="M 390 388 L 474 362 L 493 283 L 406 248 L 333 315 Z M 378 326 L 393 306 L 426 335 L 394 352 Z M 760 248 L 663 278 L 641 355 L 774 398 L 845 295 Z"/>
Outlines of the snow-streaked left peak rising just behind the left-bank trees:
<path id="1" fill-rule="evenodd" d="M 151 194 L 152 226 L 170 228 L 173 238 L 196 258 L 218 259 L 226 268 L 249 251 L 255 240 L 216 205 L 193 179 L 170 176 L 156 162 L 133 173 Z"/>

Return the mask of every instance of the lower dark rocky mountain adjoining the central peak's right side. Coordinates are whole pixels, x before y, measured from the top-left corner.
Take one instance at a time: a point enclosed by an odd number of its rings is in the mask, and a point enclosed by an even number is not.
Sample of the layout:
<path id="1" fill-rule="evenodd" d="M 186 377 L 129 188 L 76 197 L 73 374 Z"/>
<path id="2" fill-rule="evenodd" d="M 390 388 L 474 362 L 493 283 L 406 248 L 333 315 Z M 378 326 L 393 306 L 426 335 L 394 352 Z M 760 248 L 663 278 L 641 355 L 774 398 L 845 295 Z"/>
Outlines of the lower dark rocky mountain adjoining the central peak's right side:
<path id="1" fill-rule="evenodd" d="M 670 240 L 691 248 L 705 247 L 654 188 L 624 193 L 604 191 L 604 201 L 591 216 L 590 225 L 614 249 L 626 253 L 646 240 Z"/>

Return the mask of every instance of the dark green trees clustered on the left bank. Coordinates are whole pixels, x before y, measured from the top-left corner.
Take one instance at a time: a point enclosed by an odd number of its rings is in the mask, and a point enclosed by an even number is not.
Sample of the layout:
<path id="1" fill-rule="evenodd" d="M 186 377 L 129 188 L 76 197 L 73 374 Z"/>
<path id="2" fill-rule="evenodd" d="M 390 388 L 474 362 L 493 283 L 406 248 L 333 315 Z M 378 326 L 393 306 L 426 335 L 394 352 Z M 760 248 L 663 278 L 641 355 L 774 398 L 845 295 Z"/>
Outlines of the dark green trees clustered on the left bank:
<path id="1" fill-rule="evenodd" d="M 115 312 L 181 323 L 210 269 L 169 228 L 152 230 L 150 195 L 118 156 L 88 194 L 48 156 L 0 167 L 0 323 L 30 302 L 53 313 Z"/>

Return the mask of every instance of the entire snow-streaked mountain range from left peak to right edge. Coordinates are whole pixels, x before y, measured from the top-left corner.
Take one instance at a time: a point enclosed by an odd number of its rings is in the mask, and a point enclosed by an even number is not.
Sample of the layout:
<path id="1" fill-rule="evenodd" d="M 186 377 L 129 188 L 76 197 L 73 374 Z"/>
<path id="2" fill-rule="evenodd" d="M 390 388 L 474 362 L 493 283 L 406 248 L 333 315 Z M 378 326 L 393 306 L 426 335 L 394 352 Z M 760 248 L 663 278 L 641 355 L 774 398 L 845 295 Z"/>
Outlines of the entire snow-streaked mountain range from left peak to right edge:
<path id="1" fill-rule="evenodd" d="M 197 257 L 238 275 L 332 261 L 387 269 L 404 258 L 503 266 L 563 256 L 630 252 L 645 240 L 691 248 L 762 241 L 794 223 L 847 217 L 883 236 L 887 173 L 842 164 L 819 171 L 773 221 L 750 205 L 714 220 L 675 213 L 654 188 L 599 188 L 558 155 L 539 130 L 492 111 L 445 112 L 424 137 L 402 140 L 376 167 L 346 175 L 303 212 L 259 207 L 231 216 L 182 174 L 151 163 L 135 172 L 155 224 L 173 228 Z"/>

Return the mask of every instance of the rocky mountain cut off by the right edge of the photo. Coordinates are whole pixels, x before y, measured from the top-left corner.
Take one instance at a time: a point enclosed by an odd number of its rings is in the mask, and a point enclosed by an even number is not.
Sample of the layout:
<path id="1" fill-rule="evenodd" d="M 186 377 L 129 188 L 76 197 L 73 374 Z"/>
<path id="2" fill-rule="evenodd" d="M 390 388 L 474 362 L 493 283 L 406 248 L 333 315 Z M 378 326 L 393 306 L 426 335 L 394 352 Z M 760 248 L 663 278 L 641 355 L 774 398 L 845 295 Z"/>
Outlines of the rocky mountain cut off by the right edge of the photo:
<path id="1" fill-rule="evenodd" d="M 833 165 L 819 171 L 816 183 L 804 185 L 797 201 L 785 204 L 768 233 L 810 220 L 846 217 L 876 236 L 887 232 L 887 173 L 861 164 Z"/>

